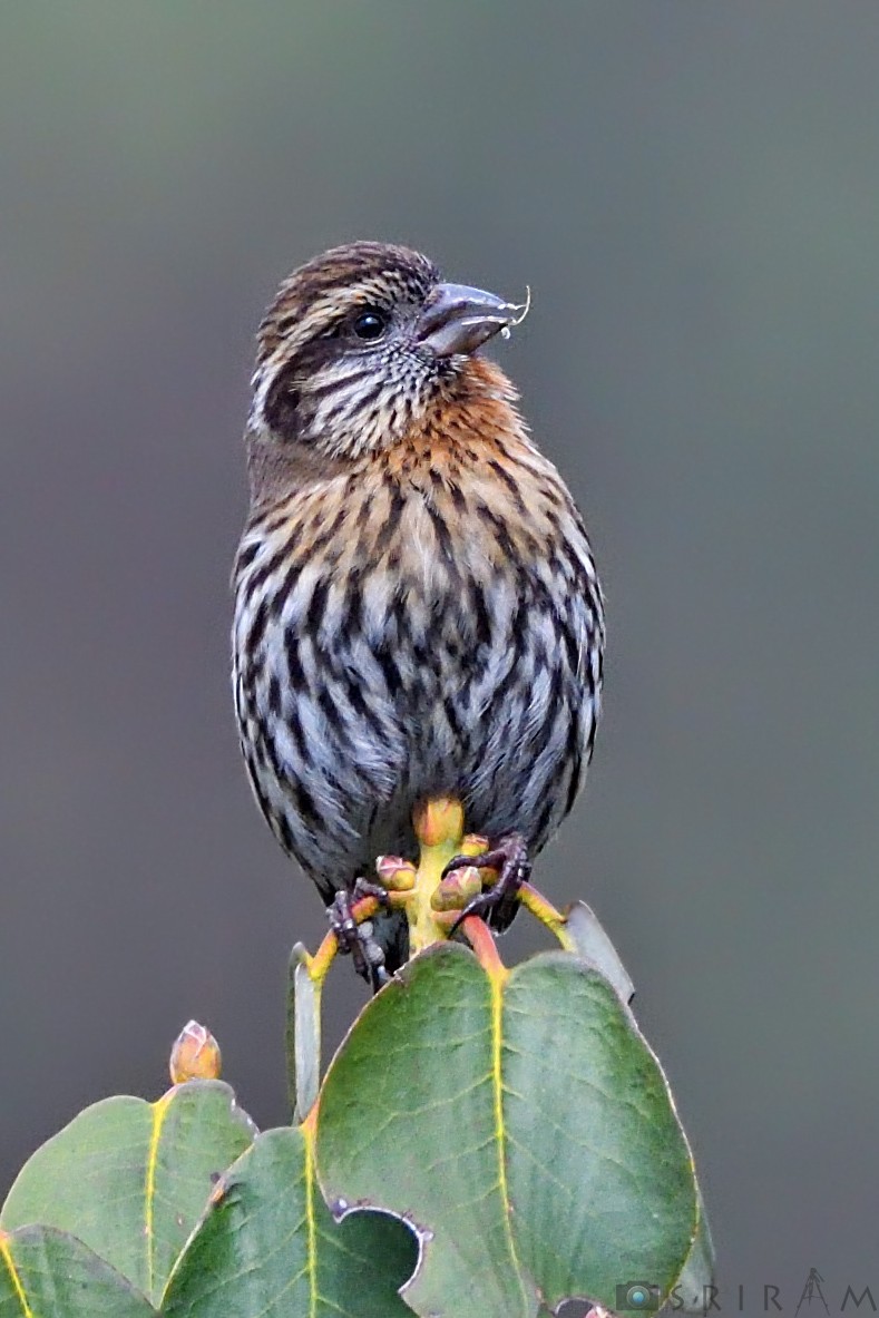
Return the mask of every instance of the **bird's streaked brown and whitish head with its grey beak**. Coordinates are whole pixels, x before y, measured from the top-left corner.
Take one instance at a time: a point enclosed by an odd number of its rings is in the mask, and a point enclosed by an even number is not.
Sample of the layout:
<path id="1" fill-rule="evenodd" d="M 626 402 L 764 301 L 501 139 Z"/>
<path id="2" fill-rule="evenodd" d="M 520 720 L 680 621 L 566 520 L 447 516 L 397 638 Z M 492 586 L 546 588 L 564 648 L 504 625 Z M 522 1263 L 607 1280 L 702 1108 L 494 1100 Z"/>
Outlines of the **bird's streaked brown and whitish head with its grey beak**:
<path id="1" fill-rule="evenodd" d="M 521 318 L 409 248 L 332 248 L 281 285 L 260 327 L 250 440 L 341 460 L 385 449 Z"/>

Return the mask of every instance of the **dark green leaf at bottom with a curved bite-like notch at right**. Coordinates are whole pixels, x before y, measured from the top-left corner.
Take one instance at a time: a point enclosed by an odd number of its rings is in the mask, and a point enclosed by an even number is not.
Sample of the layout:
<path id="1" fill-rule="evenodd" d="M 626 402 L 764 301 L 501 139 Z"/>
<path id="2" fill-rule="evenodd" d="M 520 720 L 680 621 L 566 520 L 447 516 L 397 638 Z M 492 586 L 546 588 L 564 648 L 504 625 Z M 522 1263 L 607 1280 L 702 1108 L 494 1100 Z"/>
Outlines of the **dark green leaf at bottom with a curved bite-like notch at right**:
<path id="1" fill-rule="evenodd" d="M 229 1168 L 167 1286 L 166 1318 L 406 1318 L 397 1290 L 418 1247 L 402 1223 L 336 1224 L 314 1174 L 310 1128 L 266 1131 Z"/>

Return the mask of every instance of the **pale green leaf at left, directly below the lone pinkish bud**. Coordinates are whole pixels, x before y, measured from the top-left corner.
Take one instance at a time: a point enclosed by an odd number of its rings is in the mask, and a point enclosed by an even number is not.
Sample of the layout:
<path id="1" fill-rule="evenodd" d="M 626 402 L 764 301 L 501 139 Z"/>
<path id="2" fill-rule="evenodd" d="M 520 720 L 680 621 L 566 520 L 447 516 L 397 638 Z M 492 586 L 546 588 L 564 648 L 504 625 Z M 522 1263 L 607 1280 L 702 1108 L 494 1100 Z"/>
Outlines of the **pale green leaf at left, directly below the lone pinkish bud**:
<path id="1" fill-rule="evenodd" d="M 254 1133 L 219 1081 L 177 1085 L 157 1103 L 104 1099 L 37 1149 L 0 1226 L 70 1231 L 157 1302 L 213 1180 Z"/>

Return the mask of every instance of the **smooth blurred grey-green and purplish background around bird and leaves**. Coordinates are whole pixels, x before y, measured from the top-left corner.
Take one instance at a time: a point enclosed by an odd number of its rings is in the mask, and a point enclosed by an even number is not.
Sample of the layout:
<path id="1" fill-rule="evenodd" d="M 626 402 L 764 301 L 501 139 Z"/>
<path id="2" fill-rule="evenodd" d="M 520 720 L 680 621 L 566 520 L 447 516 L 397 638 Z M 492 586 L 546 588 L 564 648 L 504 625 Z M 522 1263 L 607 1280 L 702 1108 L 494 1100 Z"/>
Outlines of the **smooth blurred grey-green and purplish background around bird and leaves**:
<path id="1" fill-rule="evenodd" d="M 232 718 L 252 336 L 293 265 L 393 239 L 532 289 L 493 348 L 610 625 L 536 879 L 638 985 L 723 1309 L 793 1314 L 810 1267 L 879 1302 L 878 49 L 871 0 L 5 9 L 3 1189 L 158 1095 L 190 1016 L 285 1119 L 326 925 Z M 343 966 L 333 1039 L 361 1000 Z"/>

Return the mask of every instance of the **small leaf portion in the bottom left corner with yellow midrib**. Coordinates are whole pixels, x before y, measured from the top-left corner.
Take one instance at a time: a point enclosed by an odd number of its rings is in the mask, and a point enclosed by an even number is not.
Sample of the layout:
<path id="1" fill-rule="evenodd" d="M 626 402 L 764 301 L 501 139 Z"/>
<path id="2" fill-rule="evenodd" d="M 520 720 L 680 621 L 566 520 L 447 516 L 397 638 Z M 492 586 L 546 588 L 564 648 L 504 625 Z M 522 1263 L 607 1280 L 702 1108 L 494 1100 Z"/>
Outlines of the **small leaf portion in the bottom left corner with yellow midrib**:
<path id="1" fill-rule="evenodd" d="M 0 1231 L 0 1318 L 158 1318 L 82 1242 L 53 1227 Z"/>

